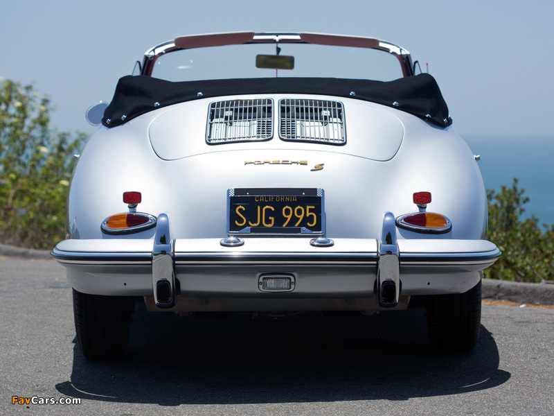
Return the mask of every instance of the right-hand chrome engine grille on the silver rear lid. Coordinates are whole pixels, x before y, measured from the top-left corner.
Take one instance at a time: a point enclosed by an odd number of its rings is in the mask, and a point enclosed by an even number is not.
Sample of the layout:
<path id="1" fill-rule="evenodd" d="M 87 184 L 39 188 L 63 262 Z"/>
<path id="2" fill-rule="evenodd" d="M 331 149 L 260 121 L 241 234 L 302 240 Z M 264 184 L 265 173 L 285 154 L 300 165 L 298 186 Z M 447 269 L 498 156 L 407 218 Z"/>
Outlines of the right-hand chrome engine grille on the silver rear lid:
<path id="1" fill-rule="evenodd" d="M 280 139 L 346 143 L 342 103 L 286 98 L 279 101 L 279 107 Z"/>

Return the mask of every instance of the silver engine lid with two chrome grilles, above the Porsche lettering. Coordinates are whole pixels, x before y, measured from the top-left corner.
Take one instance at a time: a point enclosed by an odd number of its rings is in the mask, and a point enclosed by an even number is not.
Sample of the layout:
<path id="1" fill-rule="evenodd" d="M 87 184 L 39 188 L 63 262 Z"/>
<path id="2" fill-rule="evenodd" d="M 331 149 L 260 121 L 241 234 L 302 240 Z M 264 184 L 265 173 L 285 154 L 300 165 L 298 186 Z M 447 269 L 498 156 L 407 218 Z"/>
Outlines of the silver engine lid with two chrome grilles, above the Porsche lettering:
<path id="1" fill-rule="evenodd" d="M 404 137 L 395 110 L 330 96 L 231 96 L 159 111 L 149 136 L 154 152 L 165 160 L 231 150 L 295 149 L 384 162 L 394 157 Z"/>

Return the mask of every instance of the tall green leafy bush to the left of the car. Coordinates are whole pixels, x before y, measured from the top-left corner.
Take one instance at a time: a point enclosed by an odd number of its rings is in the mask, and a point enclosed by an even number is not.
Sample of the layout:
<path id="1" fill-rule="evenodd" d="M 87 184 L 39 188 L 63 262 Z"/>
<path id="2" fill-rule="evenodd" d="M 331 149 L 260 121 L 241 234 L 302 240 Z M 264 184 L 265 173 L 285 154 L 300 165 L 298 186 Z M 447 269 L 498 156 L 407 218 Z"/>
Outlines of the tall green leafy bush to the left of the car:
<path id="1" fill-rule="evenodd" d="M 50 127 L 33 85 L 0 78 L 0 243 L 50 249 L 65 238 L 73 153 L 84 144 Z"/>

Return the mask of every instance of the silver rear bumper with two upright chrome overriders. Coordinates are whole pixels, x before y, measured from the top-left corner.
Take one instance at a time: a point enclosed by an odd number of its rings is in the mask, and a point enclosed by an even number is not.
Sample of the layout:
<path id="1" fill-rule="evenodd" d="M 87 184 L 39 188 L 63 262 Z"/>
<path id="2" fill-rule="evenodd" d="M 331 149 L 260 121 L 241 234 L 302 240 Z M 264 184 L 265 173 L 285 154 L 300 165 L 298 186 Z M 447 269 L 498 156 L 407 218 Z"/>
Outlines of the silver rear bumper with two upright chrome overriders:
<path id="1" fill-rule="evenodd" d="M 171 239 L 166 214 L 152 239 L 69 239 L 52 251 L 75 290 L 144 296 L 148 309 L 307 311 L 404 309 L 411 295 L 464 293 L 500 257 L 485 240 L 396 238 L 384 214 L 380 239 Z"/>

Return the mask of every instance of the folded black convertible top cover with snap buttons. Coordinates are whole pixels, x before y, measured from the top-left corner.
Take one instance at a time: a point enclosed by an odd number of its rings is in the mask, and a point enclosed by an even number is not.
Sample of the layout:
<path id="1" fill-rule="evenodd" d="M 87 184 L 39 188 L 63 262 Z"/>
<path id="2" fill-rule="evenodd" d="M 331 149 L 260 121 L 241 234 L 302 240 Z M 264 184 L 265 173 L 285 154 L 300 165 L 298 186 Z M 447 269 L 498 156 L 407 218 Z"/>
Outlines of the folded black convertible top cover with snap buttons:
<path id="1" fill-rule="evenodd" d="M 141 114 L 200 98 L 238 94 L 319 94 L 356 98 L 408 112 L 447 127 L 452 124 L 440 89 L 428 73 L 393 81 L 341 78 L 240 78 L 173 83 L 149 76 L 120 78 L 102 124 L 116 127 Z"/>

